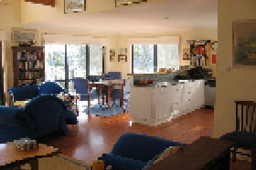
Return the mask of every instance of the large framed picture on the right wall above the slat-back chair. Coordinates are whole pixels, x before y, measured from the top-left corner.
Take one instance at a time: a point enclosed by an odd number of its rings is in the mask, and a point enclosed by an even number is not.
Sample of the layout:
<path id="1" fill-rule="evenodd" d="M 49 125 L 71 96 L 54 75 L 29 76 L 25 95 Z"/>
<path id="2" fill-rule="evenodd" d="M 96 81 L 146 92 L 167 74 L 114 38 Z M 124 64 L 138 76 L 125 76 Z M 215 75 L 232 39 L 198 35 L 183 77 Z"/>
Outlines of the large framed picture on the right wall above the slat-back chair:
<path id="1" fill-rule="evenodd" d="M 256 20 L 233 22 L 233 65 L 256 65 Z"/>

